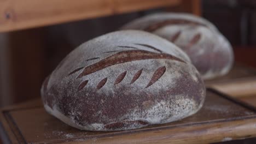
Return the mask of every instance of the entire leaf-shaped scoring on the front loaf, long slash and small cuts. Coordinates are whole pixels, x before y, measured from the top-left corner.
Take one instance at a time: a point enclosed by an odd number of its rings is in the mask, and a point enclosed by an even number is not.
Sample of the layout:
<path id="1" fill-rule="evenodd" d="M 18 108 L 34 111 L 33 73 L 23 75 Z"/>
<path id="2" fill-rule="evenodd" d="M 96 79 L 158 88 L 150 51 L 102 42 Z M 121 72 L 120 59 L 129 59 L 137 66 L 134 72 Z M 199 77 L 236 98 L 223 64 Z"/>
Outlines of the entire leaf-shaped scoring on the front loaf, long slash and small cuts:
<path id="1" fill-rule="evenodd" d="M 107 51 L 107 52 L 103 52 L 103 53 L 110 53 L 110 52 L 117 52 L 114 53 L 111 56 L 108 56 L 104 59 L 101 59 L 100 61 L 91 64 L 87 67 L 81 67 L 81 68 L 77 68 L 75 70 L 73 70 L 71 73 L 69 73 L 68 75 L 72 75 L 74 73 L 76 73 L 77 71 L 81 70 L 84 68 L 84 70 L 82 71 L 82 73 L 80 73 L 77 76 L 77 79 L 92 73 L 95 73 L 98 70 L 102 70 L 104 68 L 110 67 L 112 65 L 115 64 L 120 64 L 120 63 L 125 63 L 125 62 L 132 62 L 132 61 L 139 61 L 139 60 L 144 60 L 144 59 L 172 59 L 174 61 L 179 61 L 182 63 L 185 63 L 182 59 L 179 59 L 177 57 L 174 57 L 170 54 L 167 53 L 162 53 L 161 50 L 157 49 L 154 46 L 150 46 L 147 44 L 135 44 L 135 45 L 140 45 L 140 46 L 144 46 L 147 47 L 149 49 L 153 49 L 157 52 L 160 53 L 156 53 L 156 52 L 150 52 L 150 51 L 145 51 L 145 50 L 126 50 L 126 51 L 119 51 L 119 50 L 115 50 L 115 51 Z M 122 47 L 122 48 L 131 48 L 131 49 L 137 49 L 136 47 L 130 47 L 130 46 L 118 46 L 118 47 Z M 98 59 L 99 57 L 96 58 L 90 58 L 87 59 L 85 61 L 89 61 L 89 60 L 93 60 L 93 59 Z M 130 85 L 132 83 L 134 83 L 139 76 L 141 76 L 142 74 L 142 70 L 138 70 L 135 75 L 133 76 Z M 166 67 L 160 67 L 158 68 L 151 80 L 149 81 L 148 85 L 145 88 L 148 88 L 149 86 L 153 85 L 153 83 L 155 83 L 156 81 L 158 81 L 158 79 L 160 79 L 160 77 L 165 73 Z M 127 74 L 127 71 L 124 71 L 123 73 L 121 73 L 120 75 L 117 76 L 117 79 L 115 79 L 114 81 L 114 85 L 117 85 L 118 83 L 120 83 L 121 81 L 123 81 L 123 79 L 125 78 Z M 81 89 L 83 89 L 87 84 L 88 84 L 89 80 L 85 80 L 82 83 L 80 83 L 80 85 L 78 86 L 78 91 L 80 91 Z M 97 89 L 101 89 L 107 82 L 107 77 L 102 79 L 100 82 L 98 82 L 96 88 Z"/>

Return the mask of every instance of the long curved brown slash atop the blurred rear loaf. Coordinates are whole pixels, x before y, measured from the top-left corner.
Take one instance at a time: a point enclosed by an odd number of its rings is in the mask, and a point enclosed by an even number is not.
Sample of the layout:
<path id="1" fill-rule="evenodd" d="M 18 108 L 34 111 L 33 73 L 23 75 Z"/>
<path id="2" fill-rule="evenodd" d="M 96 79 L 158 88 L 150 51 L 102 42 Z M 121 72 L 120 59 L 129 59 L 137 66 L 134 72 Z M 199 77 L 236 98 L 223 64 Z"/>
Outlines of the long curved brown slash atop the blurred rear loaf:
<path id="1" fill-rule="evenodd" d="M 161 21 L 161 22 L 158 22 L 158 23 L 154 23 L 153 25 L 150 25 L 150 26 L 144 28 L 144 31 L 154 32 L 156 29 L 165 27 L 167 25 L 182 25 L 182 24 L 208 27 L 207 25 L 205 25 L 203 23 L 200 23 L 200 22 L 195 22 L 195 21 L 190 21 L 190 20 L 182 20 L 182 19 L 172 19 L 172 20 L 165 20 L 165 21 Z"/>

